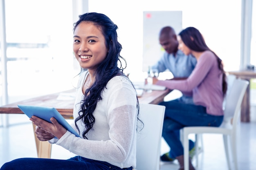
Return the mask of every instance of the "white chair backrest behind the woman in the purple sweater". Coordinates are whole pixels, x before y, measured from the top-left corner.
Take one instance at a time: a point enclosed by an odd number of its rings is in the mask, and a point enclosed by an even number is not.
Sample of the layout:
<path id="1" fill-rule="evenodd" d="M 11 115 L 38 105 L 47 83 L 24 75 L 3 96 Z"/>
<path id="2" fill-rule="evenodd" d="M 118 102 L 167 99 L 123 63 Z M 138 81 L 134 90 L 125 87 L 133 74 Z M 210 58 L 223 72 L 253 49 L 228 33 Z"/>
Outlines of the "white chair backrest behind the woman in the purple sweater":
<path id="1" fill-rule="evenodd" d="M 230 92 L 227 95 L 225 109 L 224 109 L 224 121 L 229 121 L 233 118 L 233 122 L 237 122 L 239 119 L 240 107 L 242 104 L 245 91 L 249 82 L 244 79 L 235 79 L 231 86 Z"/>

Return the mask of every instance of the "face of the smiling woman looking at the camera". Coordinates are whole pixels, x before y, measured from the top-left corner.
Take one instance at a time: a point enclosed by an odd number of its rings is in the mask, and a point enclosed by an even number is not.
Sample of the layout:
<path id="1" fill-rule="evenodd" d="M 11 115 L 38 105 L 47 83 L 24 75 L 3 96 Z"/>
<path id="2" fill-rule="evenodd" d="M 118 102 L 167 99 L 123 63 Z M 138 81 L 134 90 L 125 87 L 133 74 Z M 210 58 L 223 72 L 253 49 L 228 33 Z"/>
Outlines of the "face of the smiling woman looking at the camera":
<path id="1" fill-rule="evenodd" d="M 105 37 L 91 22 L 81 22 L 74 30 L 73 51 L 82 68 L 94 72 L 108 53 Z"/>

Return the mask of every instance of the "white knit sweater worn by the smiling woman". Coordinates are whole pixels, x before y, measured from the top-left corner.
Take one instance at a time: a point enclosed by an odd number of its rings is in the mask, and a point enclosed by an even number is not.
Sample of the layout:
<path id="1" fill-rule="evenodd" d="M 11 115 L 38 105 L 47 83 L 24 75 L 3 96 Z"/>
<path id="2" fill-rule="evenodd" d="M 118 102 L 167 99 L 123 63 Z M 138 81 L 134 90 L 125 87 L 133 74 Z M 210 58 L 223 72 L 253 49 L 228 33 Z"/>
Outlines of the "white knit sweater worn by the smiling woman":
<path id="1" fill-rule="evenodd" d="M 74 119 L 78 117 L 80 102 L 84 95 L 82 86 L 88 72 L 81 74 L 79 88 L 76 90 Z M 86 135 L 87 139 L 75 137 L 66 132 L 61 139 L 52 139 L 50 143 L 66 148 L 76 155 L 88 159 L 106 161 L 120 168 L 136 166 L 136 91 L 124 76 L 110 79 L 102 93 L 102 100 L 94 110 L 95 123 Z M 77 122 L 80 136 L 85 129 L 81 121 Z M 74 124 L 73 128 L 76 130 Z M 77 130 L 76 130 L 77 131 Z"/>

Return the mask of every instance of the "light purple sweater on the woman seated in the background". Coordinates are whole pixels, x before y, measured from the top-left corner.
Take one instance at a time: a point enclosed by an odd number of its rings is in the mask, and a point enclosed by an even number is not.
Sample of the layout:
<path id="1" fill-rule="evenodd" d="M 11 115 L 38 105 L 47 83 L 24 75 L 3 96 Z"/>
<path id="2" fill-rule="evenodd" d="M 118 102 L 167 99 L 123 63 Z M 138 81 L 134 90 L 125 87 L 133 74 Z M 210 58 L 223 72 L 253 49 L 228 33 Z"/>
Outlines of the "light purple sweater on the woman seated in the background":
<path id="1" fill-rule="evenodd" d="M 209 115 L 223 115 L 222 72 L 211 51 L 202 53 L 186 80 L 159 80 L 157 84 L 180 91 L 192 90 L 195 105 L 206 107 Z"/>

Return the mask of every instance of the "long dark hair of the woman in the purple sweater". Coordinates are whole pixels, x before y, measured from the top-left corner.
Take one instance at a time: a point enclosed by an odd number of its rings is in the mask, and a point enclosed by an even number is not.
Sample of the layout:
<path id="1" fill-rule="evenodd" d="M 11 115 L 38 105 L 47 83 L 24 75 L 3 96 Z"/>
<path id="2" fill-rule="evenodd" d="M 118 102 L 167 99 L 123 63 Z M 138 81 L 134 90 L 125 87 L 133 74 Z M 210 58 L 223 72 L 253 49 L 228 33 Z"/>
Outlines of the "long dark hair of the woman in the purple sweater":
<path id="1" fill-rule="evenodd" d="M 203 51 L 211 51 L 209 47 L 206 45 L 204 38 L 202 34 L 198 31 L 198 29 L 194 27 L 187 27 L 186 29 L 182 30 L 179 33 L 182 41 L 184 44 L 189 47 L 189 49 L 197 52 L 203 52 Z M 213 52 L 213 51 L 211 51 Z M 222 92 L 225 96 L 227 92 L 227 81 L 226 81 L 226 73 L 223 68 L 222 60 L 216 55 L 216 53 L 213 52 L 213 54 L 216 56 L 217 62 L 218 62 L 218 68 L 222 72 Z"/>

